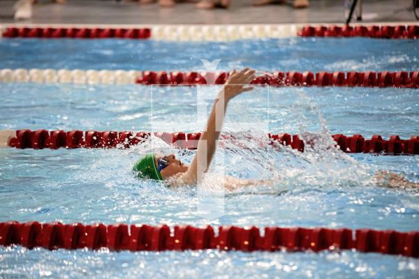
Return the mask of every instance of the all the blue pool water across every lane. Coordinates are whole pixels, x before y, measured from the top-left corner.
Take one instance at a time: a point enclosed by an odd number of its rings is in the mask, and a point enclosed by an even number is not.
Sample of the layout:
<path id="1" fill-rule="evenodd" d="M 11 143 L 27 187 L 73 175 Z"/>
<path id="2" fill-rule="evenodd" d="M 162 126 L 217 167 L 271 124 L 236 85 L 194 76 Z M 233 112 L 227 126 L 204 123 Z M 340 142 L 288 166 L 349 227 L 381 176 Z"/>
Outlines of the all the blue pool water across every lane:
<path id="1" fill-rule="evenodd" d="M 152 40 L 0 40 L 1 68 L 190 70 L 199 59 L 222 59 L 220 68 L 257 70 L 417 70 L 414 40 L 302 39 L 234 43 L 167 43 Z M 187 51 L 186 51 L 187 50 Z M 0 129 L 150 130 L 161 121 L 175 130 L 200 131 L 196 96 L 219 86 L 180 88 L 0 84 Z M 198 92 L 198 93 L 197 93 Z M 224 211 L 206 220 L 194 214 L 195 188 L 170 189 L 133 177 L 131 166 L 152 146 L 133 149 L 0 149 L 0 220 L 63 223 L 165 223 L 260 227 L 370 227 L 419 229 L 419 191 L 376 186 L 374 172 L 391 169 L 419 181 L 419 156 L 344 154 L 328 135 L 419 134 L 418 89 L 258 87 L 230 103 L 226 133 L 244 122 L 264 123 L 270 133 L 314 133 L 313 150 L 281 152 L 241 140 L 225 142 L 226 173 L 259 179 L 256 190 L 224 193 Z M 197 105 L 198 103 L 198 105 Z M 172 125 L 173 126 L 173 125 Z M 263 128 L 256 134 L 267 132 Z M 308 135 L 308 134 L 307 134 Z M 312 135 L 312 134 L 311 134 Z M 159 140 L 157 150 L 181 153 Z M 252 151 L 250 151 L 252 150 Z M 274 165 L 266 166 L 267 154 Z M 247 160 L 249 159 L 249 160 Z M 243 161 L 247 163 L 243 164 Z M 217 161 L 218 162 L 218 161 Z M 219 163 L 214 163 L 214 169 Z M 253 193 L 254 190 L 254 193 Z M 238 207 L 237 207 L 238 206 Z M 280 278 L 418 278 L 418 259 L 341 253 L 109 252 L 0 248 L 0 276 L 38 278 L 112 276 L 213 276 Z"/>

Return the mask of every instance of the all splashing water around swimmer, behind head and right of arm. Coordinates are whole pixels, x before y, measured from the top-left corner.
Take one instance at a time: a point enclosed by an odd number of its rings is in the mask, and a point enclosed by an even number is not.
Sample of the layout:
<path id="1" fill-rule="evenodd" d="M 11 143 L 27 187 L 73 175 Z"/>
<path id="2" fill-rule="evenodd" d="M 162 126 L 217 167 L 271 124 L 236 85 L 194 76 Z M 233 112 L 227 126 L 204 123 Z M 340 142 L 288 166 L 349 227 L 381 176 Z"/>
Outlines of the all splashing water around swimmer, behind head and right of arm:
<path id="1" fill-rule="evenodd" d="M 316 102 L 302 89 L 295 89 L 295 97 L 294 115 L 289 117 L 298 119 L 304 153 L 291 146 L 270 145 L 263 130 L 252 130 L 251 136 L 250 131 L 230 133 L 226 130 L 216 151 L 212 171 L 221 172 L 219 169 L 223 167 L 228 176 L 253 179 L 256 185 L 261 181 L 260 185 L 270 190 L 277 188 L 279 192 L 295 186 L 346 187 L 374 183 L 370 167 L 354 160 L 336 146 Z M 158 137 L 151 137 L 144 144 L 126 151 L 124 156 L 128 156 L 133 165 L 140 156 L 151 152 L 174 153 L 186 163 L 190 163 L 196 153 L 174 149 Z M 208 190 L 216 191 L 223 180 L 212 176 L 204 183 Z"/>

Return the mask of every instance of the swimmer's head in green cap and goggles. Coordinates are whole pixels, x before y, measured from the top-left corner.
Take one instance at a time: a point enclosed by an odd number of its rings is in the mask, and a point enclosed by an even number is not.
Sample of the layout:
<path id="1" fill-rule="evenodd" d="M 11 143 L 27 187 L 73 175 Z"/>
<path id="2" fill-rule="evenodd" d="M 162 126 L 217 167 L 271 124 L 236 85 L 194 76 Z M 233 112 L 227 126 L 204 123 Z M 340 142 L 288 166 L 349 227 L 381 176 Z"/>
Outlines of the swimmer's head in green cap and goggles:
<path id="1" fill-rule="evenodd" d="M 174 154 L 156 156 L 154 153 L 142 157 L 133 167 L 140 177 L 155 180 L 168 179 L 175 174 L 186 172 L 187 169 L 188 166 L 177 160 Z"/>

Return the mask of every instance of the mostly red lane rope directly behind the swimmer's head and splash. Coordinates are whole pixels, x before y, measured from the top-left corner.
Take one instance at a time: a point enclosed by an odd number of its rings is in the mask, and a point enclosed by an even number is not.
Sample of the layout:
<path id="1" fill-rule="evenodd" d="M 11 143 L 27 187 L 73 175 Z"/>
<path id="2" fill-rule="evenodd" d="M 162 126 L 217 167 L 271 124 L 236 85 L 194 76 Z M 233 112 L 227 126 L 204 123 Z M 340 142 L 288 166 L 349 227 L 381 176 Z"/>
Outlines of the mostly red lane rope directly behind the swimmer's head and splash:
<path id="1" fill-rule="evenodd" d="M 196 149 L 201 133 L 154 133 L 168 144 L 177 148 Z M 221 135 L 226 140 L 235 141 L 235 135 Z M 117 132 L 117 131 L 81 131 L 72 130 L 0 130 L 0 146 L 17 149 L 59 149 L 59 148 L 129 148 L 145 142 L 150 133 Z M 268 135 L 271 144 L 279 143 L 291 146 L 298 151 L 304 151 L 306 144 L 298 135 L 279 134 Z M 419 136 L 413 135 L 409 140 L 402 140 L 398 135 L 392 135 L 383 140 L 381 135 L 373 135 L 365 140 L 362 135 L 332 135 L 341 151 L 347 153 L 387 153 L 387 154 L 419 154 Z"/>

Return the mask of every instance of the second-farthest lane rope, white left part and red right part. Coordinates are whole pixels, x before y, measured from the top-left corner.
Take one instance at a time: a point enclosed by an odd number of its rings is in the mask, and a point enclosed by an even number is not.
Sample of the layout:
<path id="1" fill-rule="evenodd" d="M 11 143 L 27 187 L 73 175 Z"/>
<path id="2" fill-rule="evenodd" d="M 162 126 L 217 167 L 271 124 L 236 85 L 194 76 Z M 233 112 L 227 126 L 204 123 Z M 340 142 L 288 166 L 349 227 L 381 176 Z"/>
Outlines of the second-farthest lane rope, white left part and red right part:
<path id="1" fill-rule="evenodd" d="M 2 69 L 0 82 L 75 84 L 224 84 L 230 73 L 154 72 L 137 70 Z M 364 86 L 419 88 L 419 71 L 399 72 L 274 72 L 258 75 L 251 84 L 270 86 Z"/>

